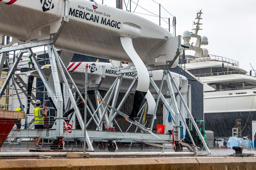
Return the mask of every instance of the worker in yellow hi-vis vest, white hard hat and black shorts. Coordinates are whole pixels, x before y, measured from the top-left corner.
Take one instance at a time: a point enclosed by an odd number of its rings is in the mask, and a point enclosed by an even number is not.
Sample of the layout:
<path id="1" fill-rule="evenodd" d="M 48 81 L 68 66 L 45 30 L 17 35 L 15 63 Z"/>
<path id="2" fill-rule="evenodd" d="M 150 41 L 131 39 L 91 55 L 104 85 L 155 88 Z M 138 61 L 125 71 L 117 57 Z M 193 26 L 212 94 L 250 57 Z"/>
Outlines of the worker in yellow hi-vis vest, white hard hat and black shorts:
<path id="1" fill-rule="evenodd" d="M 44 117 L 47 117 L 46 106 L 44 106 L 43 108 L 41 108 L 40 106 L 40 100 L 36 100 L 36 108 L 34 109 L 35 129 L 44 129 Z M 36 138 L 36 145 L 34 146 L 36 149 L 42 149 L 39 147 L 41 141 L 41 138 Z"/>

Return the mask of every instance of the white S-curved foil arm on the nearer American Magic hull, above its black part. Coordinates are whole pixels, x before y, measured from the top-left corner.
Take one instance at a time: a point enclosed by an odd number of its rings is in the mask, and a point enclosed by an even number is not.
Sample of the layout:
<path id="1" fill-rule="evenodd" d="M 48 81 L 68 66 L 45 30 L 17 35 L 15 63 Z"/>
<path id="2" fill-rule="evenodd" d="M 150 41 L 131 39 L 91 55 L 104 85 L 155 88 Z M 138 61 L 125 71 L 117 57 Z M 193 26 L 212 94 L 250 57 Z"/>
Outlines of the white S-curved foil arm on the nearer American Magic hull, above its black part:
<path id="1" fill-rule="evenodd" d="M 145 64 L 143 63 L 143 61 L 140 59 L 140 56 L 136 53 L 132 45 L 132 39 L 127 37 L 120 37 L 120 39 L 125 52 L 128 54 L 128 56 L 130 57 L 134 66 L 137 69 L 138 85 L 136 90 L 148 92 L 148 88 L 149 88 L 148 70 Z"/>

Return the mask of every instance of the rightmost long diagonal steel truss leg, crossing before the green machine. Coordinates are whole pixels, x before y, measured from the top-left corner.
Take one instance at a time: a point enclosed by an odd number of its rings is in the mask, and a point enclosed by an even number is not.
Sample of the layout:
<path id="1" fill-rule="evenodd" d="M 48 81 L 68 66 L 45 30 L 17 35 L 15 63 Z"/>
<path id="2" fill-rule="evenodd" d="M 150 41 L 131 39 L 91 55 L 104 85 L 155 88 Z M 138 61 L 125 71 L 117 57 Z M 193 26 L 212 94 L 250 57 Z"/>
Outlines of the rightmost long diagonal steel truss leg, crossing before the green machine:
<path id="1" fill-rule="evenodd" d="M 184 99 L 183 99 L 183 97 L 182 97 L 182 95 L 181 95 L 181 93 L 180 93 L 179 88 L 177 87 L 175 81 L 174 81 L 173 78 L 172 78 L 171 73 L 168 72 L 168 74 L 170 75 L 171 81 L 172 81 L 172 83 L 173 83 L 175 89 L 177 90 L 177 92 L 178 92 L 178 94 L 179 94 L 179 96 L 180 96 L 181 102 L 183 103 L 183 105 L 185 106 L 185 109 L 186 109 L 187 112 L 188 112 L 188 116 L 189 116 L 190 120 L 192 121 L 192 123 L 193 123 L 193 125 L 194 125 L 194 127 L 195 127 L 195 129 L 196 129 L 196 132 L 197 132 L 197 134 L 199 135 L 199 138 L 201 139 L 201 141 L 202 141 L 202 143 L 203 143 L 203 145 L 204 145 L 204 148 L 206 149 L 206 151 L 207 151 L 209 154 L 211 154 L 211 152 L 210 152 L 208 146 L 206 145 L 206 142 L 204 141 L 204 138 L 203 138 L 203 136 L 202 136 L 202 134 L 201 134 L 199 128 L 197 127 L 197 124 L 196 124 L 196 122 L 195 122 L 195 120 L 194 120 L 194 118 L 193 118 L 193 116 L 192 116 L 190 110 L 188 109 L 187 104 L 185 103 L 185 101 L 184 101 Z"/>

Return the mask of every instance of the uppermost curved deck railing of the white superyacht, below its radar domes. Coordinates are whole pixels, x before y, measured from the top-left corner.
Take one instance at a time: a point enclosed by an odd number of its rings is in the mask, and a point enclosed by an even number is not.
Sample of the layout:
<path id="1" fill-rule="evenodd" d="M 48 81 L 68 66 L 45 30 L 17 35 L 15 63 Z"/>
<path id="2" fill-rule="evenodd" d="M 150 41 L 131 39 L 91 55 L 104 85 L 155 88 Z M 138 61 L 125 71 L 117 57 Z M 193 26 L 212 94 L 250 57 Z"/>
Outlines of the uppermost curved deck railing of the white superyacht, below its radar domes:
<path id="1" fill-rule="evenodd" d="M 179 64 L 204 62 L 204 61 L 220 61 L 220 62 L 231 64 L 232 66 L 239 67 L 239 62 L 236 60 L 232 60 L 232 59 L 217 56 L 217 55 L 211 55 L 211 54 L 209 54 L 208 57 L 201 57 L 201 58 L 194 58 L 194 59 L 193 58 L 180 59 Z"/>

